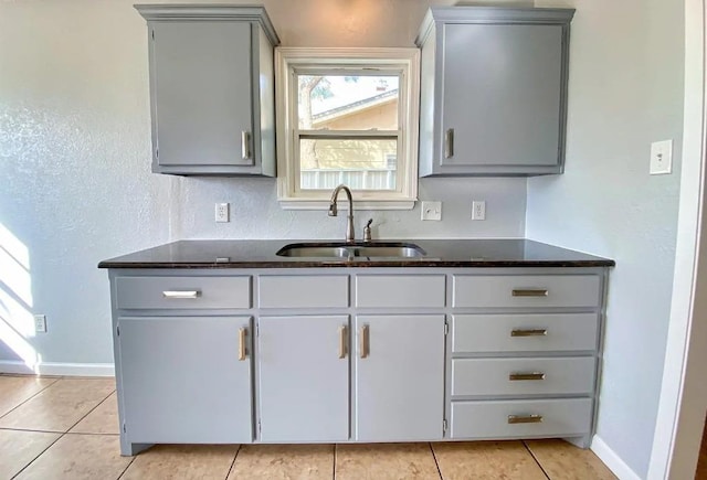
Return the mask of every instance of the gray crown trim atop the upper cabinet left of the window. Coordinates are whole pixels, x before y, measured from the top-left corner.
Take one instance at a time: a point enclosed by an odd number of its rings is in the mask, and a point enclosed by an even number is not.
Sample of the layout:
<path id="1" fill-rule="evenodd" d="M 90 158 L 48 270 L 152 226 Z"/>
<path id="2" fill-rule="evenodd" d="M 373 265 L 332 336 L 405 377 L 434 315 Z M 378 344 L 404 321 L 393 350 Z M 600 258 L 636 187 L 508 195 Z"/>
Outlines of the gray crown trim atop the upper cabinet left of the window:
<path id="1" fill-rule="evenodd" d="M 261 6 L 231 4 L 136 4 L 135 9 L 147 21 L 155 20 L 238 20 L 257 22 L 273 46 L 279 45 L 267 12 Z"/>

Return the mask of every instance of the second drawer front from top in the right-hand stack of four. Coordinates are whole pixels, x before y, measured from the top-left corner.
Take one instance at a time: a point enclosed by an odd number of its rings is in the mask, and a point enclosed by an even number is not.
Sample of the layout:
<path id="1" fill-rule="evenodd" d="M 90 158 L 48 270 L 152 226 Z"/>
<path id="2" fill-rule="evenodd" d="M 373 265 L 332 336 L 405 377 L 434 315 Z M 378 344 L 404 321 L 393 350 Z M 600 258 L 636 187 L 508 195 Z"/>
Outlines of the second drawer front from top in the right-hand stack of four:
<path id="1" fill-rule="evenodd" d="M 598 313 L 455 314 L 452 352 L 594 351 Z"/>

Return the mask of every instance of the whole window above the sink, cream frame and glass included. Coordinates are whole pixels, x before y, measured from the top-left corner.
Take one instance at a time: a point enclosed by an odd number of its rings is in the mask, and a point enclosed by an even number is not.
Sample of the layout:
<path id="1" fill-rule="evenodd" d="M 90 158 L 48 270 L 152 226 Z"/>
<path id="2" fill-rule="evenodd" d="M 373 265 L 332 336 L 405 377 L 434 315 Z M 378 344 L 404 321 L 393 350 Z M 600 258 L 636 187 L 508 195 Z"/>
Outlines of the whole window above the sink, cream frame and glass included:
<path id="1" fill-rule="evenodd" d="M 416 49 L 281 47 L 275 72 L 284 207 L 325 207 L 340 183 L 357 207 L 414 205 Z"/>

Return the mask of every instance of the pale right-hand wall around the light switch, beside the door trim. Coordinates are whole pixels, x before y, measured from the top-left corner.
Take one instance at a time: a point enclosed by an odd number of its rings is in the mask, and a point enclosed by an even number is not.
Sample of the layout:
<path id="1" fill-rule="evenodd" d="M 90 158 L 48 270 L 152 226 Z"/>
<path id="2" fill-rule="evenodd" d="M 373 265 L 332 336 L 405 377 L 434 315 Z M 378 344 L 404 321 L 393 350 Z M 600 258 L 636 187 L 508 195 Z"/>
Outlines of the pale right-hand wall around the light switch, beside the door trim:
<path id="1" fill-rule="evenodd" d="M 671 311 L 683 116 L 682 0 L 538 1 L 577 8 L 567 169 L 528 182 L 529 238 L 616 260 L 597 435 L 641 478 L 650 461 Z M 672 175 L 650 143 L 675 140 Z"/>

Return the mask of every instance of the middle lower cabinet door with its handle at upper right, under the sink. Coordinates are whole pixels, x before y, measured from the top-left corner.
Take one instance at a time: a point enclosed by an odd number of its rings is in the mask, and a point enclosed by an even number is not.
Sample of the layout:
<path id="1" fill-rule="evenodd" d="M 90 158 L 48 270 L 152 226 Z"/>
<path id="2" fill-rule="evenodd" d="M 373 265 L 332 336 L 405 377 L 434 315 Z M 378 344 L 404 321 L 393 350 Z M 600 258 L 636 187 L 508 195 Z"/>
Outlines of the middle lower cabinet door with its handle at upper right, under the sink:
<path id="1" fill-rule="evenodd" d="M 347 440 L 348 317 L 261 317 L 257 322 L 260 439 Z"/>

